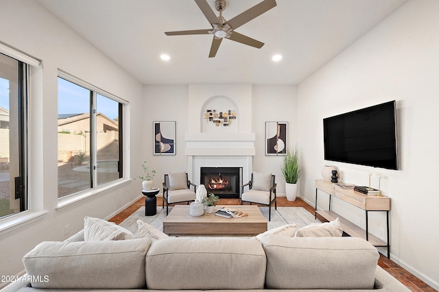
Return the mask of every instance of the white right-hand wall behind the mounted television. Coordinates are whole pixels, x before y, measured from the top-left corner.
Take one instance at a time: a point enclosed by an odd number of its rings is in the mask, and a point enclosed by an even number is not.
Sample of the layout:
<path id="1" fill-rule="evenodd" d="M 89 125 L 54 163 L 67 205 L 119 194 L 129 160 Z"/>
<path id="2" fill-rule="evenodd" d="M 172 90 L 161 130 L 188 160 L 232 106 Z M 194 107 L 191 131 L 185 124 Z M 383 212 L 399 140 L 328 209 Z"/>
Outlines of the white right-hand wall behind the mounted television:
<path id="1" fill-rule="evenodd" d="M 305 162 L 300 191 L 314 204 L 314 180 L 323 165 L 340 169 L 343 182 L 365 185 L 381 174 L 383 195 L 392 198 L 391 258 L 439 289 L 439 1 L 412 0 L 298 86 L 299 141 Z M 399 171 L 324 161 L 322 119 L 396 100 Z M 320 197 L 324 197 L 321 195 Z M 319 197 L 319 198 L 320 198 Z M 364 217 L 352 206 L 334 208 L 348 218 Z M 319 207 L 327 201 L 319 201 Z M 372 232 L 384 217 L 375 216 Z M 364 219 L 357 222 L 364 226 Z"/>

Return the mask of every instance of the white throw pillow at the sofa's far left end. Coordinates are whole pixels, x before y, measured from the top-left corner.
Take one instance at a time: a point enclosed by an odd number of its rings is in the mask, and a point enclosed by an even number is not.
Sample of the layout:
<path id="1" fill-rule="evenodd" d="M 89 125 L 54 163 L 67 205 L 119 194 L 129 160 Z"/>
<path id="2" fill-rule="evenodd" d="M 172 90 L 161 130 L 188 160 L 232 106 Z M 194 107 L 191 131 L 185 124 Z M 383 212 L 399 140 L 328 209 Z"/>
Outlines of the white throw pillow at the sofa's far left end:
<path id="1" fill-rule="evenodd" d="M 129 230 L 99 218 L 84 218 L 84 241 L 121 241 L 134 239 Z"/>

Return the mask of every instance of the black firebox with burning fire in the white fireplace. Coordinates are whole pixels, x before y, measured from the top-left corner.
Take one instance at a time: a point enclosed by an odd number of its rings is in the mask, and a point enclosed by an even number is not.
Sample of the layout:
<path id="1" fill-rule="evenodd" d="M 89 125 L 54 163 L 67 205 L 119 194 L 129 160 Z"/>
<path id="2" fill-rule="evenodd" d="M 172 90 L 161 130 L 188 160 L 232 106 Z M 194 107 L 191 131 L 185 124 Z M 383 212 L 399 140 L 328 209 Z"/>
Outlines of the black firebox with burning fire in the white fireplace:
<path id="1" fill-rule="evenodd" d="M 242 167 L 201 167 L 200 183 L 207 193 L 223 198 L 241 196 Z"/>

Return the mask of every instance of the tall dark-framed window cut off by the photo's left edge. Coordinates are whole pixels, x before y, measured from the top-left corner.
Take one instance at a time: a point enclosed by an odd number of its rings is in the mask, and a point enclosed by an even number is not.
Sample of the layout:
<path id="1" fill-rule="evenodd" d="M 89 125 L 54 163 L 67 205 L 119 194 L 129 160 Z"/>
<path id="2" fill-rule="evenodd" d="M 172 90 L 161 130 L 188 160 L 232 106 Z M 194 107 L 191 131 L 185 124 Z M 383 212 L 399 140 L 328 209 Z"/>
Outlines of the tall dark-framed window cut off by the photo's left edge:
<path id="1" fill-rule="evenodd" d="M 0 53 L 0 218 L 27 210 L 27 71 Z"/>

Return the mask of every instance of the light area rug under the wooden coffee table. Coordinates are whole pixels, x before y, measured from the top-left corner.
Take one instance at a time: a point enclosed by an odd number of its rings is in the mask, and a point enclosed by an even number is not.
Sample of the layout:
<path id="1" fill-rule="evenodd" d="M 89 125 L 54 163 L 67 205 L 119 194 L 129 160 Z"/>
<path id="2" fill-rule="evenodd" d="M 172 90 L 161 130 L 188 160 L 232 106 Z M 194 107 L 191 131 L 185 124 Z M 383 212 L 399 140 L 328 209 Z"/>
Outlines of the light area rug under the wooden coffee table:
<path id="1" fill-rule="evenodd" d="M 259 207 L 265 219 L 268 219 L 268 207 Z M 171 212 L 172 207 L 169 207 Z M 166 208 L 157 207 L 157 214 L 154 216 L 145 216 L 145 207 L 139 208 L 136 212 L 132 213 L 130 217 L 123 220 L 119 226 L 126 228 L 136 234 L 137 232 L 137 220 L 150 224 L 158 230 L 163 230 L 163 220 L 166 218 Z M 268 220 L 267 220 L 268 221 Z M 314 219 L 314 216 L 310 212 L 302 207 L 278 207 L 277 210 L 272 208 L 272 220 L 268 221 L 268 230 L 283 226 L 285 224 L 298 223 L 299 227 L 307 226 L 311 223 L 320 223 L 318 219 Z"/>

